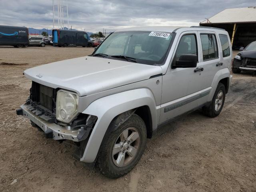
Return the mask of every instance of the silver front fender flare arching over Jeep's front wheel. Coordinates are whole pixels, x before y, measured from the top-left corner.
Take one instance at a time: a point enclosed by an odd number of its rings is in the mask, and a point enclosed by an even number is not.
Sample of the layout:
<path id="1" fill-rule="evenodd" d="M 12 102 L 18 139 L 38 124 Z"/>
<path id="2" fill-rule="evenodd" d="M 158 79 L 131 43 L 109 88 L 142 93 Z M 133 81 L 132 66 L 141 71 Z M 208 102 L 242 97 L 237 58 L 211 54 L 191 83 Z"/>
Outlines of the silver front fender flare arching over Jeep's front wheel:
<path id="1" fill-rule="evenodd" d="M 119 114 L 140 106 L 148 106 L 152 116 L 152 130 L 157 128 L 154 95 L 147 88 L 128 90 L 105 96 L 92 102 L 82 113 L 98 117 L 80 161 L 94 162 L 110 122 Z"/>

